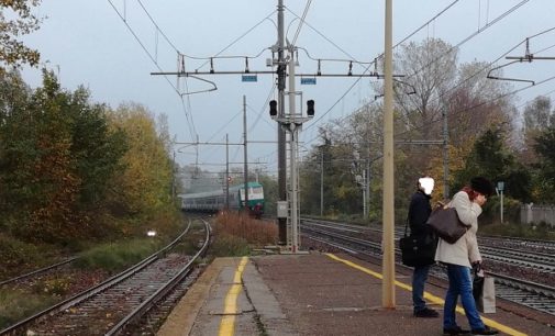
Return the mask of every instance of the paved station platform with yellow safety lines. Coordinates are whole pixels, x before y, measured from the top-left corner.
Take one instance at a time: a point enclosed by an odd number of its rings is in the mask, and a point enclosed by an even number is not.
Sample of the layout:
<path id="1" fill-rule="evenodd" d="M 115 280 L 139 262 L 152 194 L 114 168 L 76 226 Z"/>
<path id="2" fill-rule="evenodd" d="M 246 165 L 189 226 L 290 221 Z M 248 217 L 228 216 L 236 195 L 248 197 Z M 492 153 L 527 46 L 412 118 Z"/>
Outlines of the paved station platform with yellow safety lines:
<path id="1" fill-rule="evenodd" d="M 344 254 L 219 258 L 157 335 L 442 335 L 442 317 L 412 316 L 410 271 L 396 272 L 396 309 L 381 306 L 380 272 Z M 444 285 L 425 287 L 441 315 Z M 463 314 L 457 310 L 457 322 L 468 328 Z M 555 335 L 553 316 L 499 299 L 482 318 L 500 335 Z"/>

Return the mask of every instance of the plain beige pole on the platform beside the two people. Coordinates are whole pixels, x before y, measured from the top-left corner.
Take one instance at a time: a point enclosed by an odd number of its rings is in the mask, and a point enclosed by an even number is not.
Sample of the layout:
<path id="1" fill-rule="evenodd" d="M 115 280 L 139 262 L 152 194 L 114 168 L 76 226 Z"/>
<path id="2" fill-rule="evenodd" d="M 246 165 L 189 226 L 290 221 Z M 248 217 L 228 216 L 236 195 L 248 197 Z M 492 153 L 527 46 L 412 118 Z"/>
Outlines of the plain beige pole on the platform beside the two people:
<path id="1" fill-rule="evenodd" d="M 392 0 L 386 0 L 384 82 L 384 260 L 381 304 L 395 309 Z"/>

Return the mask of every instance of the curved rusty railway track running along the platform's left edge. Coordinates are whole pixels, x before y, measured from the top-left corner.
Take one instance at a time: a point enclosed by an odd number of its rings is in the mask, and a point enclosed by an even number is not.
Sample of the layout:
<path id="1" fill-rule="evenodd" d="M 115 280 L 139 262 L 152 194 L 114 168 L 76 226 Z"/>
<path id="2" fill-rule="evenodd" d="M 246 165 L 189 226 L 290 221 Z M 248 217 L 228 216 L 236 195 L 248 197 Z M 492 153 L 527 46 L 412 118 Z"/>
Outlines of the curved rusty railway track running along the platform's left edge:
<path id="1" fill-rule="evenodd" d="M 193 256 L 176 251 L 191 224 L 168 246 L 140 264 L 64 302 L 35 314 L 0 335 L 119 335 L 126 333 L 174 289 L 182 285 L 204 255 L 210 226 Z"/>

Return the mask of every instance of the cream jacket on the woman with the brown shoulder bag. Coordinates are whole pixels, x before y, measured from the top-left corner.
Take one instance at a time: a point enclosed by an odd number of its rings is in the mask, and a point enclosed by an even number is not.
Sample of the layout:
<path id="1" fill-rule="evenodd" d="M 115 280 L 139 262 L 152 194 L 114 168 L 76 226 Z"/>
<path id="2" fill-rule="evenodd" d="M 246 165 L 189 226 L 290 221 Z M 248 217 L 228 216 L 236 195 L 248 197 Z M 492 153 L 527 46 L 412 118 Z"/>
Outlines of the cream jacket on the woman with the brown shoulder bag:
<path id="1" fill-rule="evenodd" d="M 453 197 L 449 206 L 455 208 L 460 222 L 471 226 L 455 244 L 448 244 L 440 238 L 437 249 L 435 250 L 435 260 L 471 267 L 471 262 L 481 261 L 478 240 L 476 238 L 478 216 L 481 213 L 481 208 L 477 203 L 471 202 L 468 194 L 464 191 L 459 191 Z"/>

